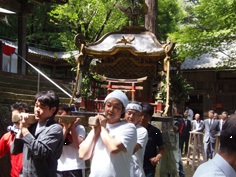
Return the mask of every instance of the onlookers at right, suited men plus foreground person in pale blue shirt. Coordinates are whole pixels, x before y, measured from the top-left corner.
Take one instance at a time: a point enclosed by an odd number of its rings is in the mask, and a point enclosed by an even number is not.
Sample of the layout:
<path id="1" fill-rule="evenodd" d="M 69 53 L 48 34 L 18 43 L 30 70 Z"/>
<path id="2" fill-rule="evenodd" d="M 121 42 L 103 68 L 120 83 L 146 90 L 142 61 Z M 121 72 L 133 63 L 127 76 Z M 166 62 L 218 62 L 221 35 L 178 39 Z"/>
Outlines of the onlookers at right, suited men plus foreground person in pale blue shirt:
<path id="1" fill-rule="evenodd" d="M 188 114 L 190 110 L 190 114 Z M 190 132 L 203 132 L 204 154 L 206 162 L 200 165 L 194 173 L 194 177 L 233 177 L 236 176 L 236 115 L 235 111 L 231 110 L 228 114 L 223 111 L 221 114 L 214 110 L 208 111 L 208 117 L 201 119 L 200 114 L 193 114 L 193 111 L 187 107 L 184 113 L 184 119 L 191 120 L 191 124 L 184 124 L 187 131 L 187 139 L 189 140 Z M 189 116 L 191 115 L 191 117 Z M 193 118 L 194 115 L 194 119 Z M 183 120 L 184 122 L 184 120 Z M 219 150 L 216 147 L 216 137 L 220 137 Z M 183 138 L 183 140 L 181 140 Z M 182 137 L 180 133 L 180 142 L 184 142 L 186 136 Z M 187 141 L 188 141 L 187 140 Z M 188 143 L 185 144 L 185 147 Z M 180 143 L 181 152 L 183 145 Z M 186 149 L 184 149 L 186 154 Z M 217 152 L 215 152 L 217 150 Z"/>

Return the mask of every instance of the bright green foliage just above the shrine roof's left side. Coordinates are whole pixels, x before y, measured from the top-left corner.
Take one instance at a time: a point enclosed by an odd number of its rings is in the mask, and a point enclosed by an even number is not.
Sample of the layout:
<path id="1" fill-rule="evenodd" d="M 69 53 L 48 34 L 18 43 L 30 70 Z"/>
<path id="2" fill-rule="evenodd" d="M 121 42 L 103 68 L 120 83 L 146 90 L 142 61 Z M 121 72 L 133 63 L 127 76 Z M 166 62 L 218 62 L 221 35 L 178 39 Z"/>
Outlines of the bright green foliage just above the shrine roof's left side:
<path id="1" fill-rule="evenodd" d="M 74 36 L 77 29 L 85 35 L 87 42 L 93 42 L 101 35 L 119 29 L 127 20 L 114 6 L 115 0 L 71 0 L 65 5 L 55 5 L 49 13 L 54 23 L 66 30 L 59 33 L 63 46 L 75 50 Z"/>

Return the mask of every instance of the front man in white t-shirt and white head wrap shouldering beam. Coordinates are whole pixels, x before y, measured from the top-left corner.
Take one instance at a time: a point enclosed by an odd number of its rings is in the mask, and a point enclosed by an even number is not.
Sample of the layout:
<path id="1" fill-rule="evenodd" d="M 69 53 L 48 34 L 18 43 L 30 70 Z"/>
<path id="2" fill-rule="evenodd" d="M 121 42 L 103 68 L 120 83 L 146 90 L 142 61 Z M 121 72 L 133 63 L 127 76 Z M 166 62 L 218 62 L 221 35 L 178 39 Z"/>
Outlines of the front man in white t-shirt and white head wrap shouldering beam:
<path id="1" fill-rule="evenodd" d="M 95 116 L 99 124 L 91 127 L 80 144 L 79 157 L 91 159 L 90 177 L 130 177 L 137 132 L 133 123 L 121 121 L 128 98 L 122 91 L 114 90 L 106 96 L 104 103 L 105 116 Z"/>

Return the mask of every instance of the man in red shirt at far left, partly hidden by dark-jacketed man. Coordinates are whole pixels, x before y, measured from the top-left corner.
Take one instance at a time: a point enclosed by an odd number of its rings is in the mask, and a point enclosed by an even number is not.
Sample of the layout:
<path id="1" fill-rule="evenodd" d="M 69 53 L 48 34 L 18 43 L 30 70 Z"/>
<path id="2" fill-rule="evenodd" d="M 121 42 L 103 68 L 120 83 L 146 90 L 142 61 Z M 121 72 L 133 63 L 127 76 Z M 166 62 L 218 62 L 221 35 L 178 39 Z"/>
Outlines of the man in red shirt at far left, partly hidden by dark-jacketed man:
<path id="1" fill-rule="evenodd" d="M 16 102 L 11 105 L 12 112 L 12 126 L 8 126 L 8 132 L 5 133 L 0 139 L 0 158 L 6 154 L 10 154 L 11 159 L 11 177 L 18 177 L 22 170 L 22 153 L 14 155 L 10 152 L 11 144 L 19 130 L 19 122 L 21 112 L 27 112 L 29 110 L 28 105 L 23 102 Z"/>

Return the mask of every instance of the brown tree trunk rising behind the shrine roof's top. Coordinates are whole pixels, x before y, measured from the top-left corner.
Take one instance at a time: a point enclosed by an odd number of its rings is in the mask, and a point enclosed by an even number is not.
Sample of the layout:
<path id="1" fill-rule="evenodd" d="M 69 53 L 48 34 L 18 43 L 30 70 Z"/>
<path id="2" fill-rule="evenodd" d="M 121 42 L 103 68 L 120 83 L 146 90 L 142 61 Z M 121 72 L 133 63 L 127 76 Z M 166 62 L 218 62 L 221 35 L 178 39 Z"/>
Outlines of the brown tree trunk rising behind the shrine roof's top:
<path id="1" fill-rule="evenodd" d="M 145 0 L 148 13 L 145 15 L 145 28 L 157 35 L 157 6 L 158 0 Z"/>

